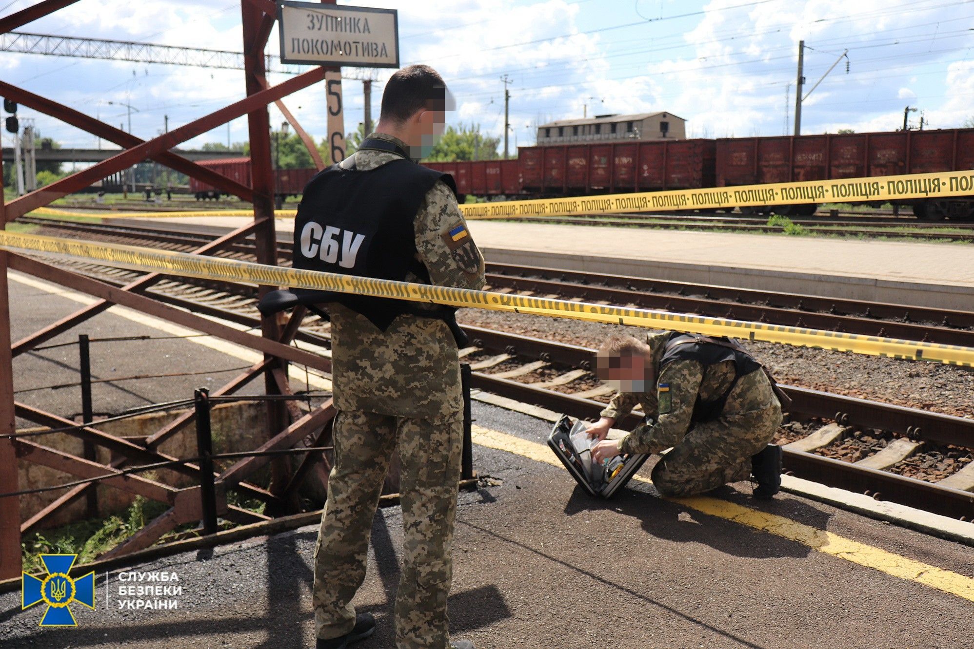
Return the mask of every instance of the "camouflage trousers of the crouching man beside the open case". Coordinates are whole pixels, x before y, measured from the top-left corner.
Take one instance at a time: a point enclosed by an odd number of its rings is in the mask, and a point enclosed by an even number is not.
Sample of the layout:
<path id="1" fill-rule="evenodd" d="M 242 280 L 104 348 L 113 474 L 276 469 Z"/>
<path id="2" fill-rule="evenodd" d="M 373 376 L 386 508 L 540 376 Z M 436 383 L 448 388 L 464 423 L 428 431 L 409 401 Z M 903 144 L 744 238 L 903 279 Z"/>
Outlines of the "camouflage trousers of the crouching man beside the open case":
<path id="1" fill-rule="evenodd" d="M 653 485 L 663 495 L 679 497 L 747 480 L 751 455 L 774 439 L 779 425 L 777 400 L 764 410 L 696 424 L 656 463 Z"/>

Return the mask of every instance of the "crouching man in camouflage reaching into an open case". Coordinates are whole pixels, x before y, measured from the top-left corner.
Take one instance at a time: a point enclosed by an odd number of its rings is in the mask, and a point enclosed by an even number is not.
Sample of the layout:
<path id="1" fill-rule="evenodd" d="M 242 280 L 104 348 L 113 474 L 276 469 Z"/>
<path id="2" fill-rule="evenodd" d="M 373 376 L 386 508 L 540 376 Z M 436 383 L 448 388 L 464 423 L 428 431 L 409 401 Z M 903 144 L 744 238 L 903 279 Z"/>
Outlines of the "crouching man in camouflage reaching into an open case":
<path id="1" fill-rule="evenodd" d="M 601 441 L 592 461 L 669 449 L 653 469 L 663 495 L 689 496 L 732 482 L 757 482 L 767 499 L 781 486 L 781 448 L 768 446 L 781 405 L 761 364 L 724 338 L 664 332 L 644 341 L 613 336 L 597 358 L 602 379 L 619 391 L 588 433 Z M 637 404 L 648 419 L 620 440 L 606 434 Z"/>

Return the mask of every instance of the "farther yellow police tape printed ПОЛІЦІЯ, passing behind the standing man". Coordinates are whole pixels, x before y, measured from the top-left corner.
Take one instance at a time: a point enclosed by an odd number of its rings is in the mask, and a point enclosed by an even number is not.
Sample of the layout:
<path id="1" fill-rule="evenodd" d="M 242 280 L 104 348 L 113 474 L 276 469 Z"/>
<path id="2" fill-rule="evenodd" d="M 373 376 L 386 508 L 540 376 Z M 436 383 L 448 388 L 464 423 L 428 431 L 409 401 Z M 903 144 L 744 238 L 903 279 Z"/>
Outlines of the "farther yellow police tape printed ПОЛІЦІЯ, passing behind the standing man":
<path id="1" fill-rule="evenodd" d="M 518 217 L 583 216 L 654 209 L 733 209 L 766 205 L 796 205 L 819 202 L 861 202 L 943 198 L 974 195 L 974 170 L 912 173 L 899 176 L 812 180 L 766 185 L 712 187 L 698 190 L 635 192 L 575 198 L 537 198 L 498 202 L 466 203 L 460 206 L 468 219 L 513 219 Z M 38 213 L 55 210 L 39 208 Z M 179 218 L 186 216 L 249 216 L 252 210 L 198 210 L 192 212 L 142 212 L 116 214 L 125 218 Z M 279 218 L 292 217 L 295 210 L 277 210 Z"/>

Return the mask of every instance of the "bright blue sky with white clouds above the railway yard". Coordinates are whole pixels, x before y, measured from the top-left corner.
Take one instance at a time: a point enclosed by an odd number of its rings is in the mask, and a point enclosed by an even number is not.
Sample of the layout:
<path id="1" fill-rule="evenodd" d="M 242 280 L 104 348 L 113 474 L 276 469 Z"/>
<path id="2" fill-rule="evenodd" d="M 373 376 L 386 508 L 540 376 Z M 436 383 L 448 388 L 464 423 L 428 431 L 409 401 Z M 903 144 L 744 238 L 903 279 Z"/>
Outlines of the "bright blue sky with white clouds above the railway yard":
<path id="1" fill-rule="evenodd" d="M 6 15 L 34 0 L 15 0 Z M 7 4 L 0 0 L 0 7 Z M 798 42 L 805 39 L 807 91 L 836 58 L 845 60 L 805 100 L 803 133 L 892 130 L 906 105 L 918 123 L 960 126 L 974 116 L 971 0 L 423 0 L 340 2 L 399 10 L 403 63 L 437 68 L 457 96 L 453 121 L 500 135 L 505 74 L 512 80 L 511 146 L 534 126 L 593 113 L 668 111 L 688 136 L 779 135 L 791 130 Z M 21 31 L 241 49 L 239 0 L 81 0 Z M 277 31 L 270 39 L 277 52 Z M 382 80 L 373 87 L 378 116 Z M 285 75 L 272 75 L 280 82 Z M 185 124 L 244 95 L 243 72 L 160 64 L 0 54 L 0 79 L 120 125 L 126 101 L 143 138 Z M 361 84 L 347 81 L 346 130 L 362 120 Z M 324 90 L 285 99 L 302 125 L 324 133 Z M 272 124 L 281 114 L 271 107 Z M 921 112 L 920 112 L 921 111 Z M 33 113 L 21 109 L 21 115 Z M 93 136 L 38 115 L 65 146 Z M 786 130 L 787 129 L 787 130 Z M 227 127 L 192 140 L 226 142 Z M 230 126 L 246 137 L 245 119 Z"/>

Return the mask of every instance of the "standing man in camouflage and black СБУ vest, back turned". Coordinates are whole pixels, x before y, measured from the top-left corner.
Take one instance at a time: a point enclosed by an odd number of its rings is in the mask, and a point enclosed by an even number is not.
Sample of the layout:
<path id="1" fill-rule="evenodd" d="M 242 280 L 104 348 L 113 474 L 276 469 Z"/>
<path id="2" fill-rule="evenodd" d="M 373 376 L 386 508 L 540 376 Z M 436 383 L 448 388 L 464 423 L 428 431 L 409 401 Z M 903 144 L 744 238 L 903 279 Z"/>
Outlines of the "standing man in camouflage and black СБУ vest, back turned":
<path id="1" fill-rule="evenodd" d="M 305 190 L 295 219 L 296 268 L 483 287 L 483 260 L 453 179 L 416 163 L 442 132 L 450 100 L 429 66 L 393 74 L 376 132 Z M 338 414 L 315 548 L 318 649 L 343 649 L 375 629 L 372 616 L 356 616 L 350 602 L 365 578 L 372 522 L 396 449 L 405 536 L 396 647 L 472 649 L 450 641 L 446 614 L 464 408 L 452 310 L 339 294 L 328 310 Z"/>

